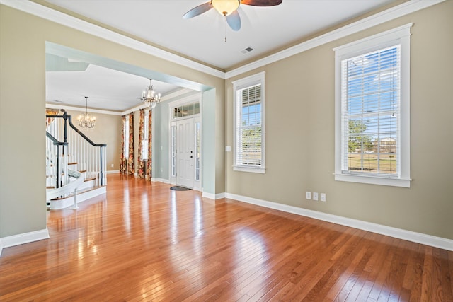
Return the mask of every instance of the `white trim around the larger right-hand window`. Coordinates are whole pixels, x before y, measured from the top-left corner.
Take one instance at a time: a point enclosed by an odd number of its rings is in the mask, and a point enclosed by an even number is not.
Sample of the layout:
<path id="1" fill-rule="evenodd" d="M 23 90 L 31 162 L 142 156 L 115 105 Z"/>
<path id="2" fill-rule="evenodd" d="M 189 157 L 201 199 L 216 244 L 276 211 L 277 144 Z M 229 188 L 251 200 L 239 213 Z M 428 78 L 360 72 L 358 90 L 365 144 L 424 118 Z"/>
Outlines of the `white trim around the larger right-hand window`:
<path id="1" fill-rule="evenodd" d="M 410 135 L 410 66 L 411 66 L 411 27 L 413 23 L 402 25 L 384 33 L 372 35 L 340 47 L 335 51 L 335 180 L 361 182 L 374 185 L 411 187 L 411 135 Z M 391 45 L 401 45 L 401 142 L 400 175 L 356 175 L 342 172 L 342 81 L 341 61 L 360 54 L 382 49 Z"/>

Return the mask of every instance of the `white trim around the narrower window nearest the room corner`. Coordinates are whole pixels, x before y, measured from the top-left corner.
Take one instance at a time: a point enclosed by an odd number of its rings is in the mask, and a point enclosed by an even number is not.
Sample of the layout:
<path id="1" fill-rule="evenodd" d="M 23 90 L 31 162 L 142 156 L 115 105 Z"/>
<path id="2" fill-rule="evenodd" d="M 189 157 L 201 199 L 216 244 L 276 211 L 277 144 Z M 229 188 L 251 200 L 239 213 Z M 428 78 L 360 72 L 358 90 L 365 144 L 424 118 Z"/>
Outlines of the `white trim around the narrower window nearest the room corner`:
<path id="1" fill-rule="evenodd" d="M 265 173 L 265 71 L 253 76 L 247 76 L 246 78 L 233 81 L 233 93 L 234 93 L 234 122 L 233 122 L 233 135 L 234 135 L 234 146 L 233 146 L 233 170 L 240 172 L 251 172 L 251 173 Z M 243 88 L 247 88 L 256 84 L 261 84 L 261 166 L 260 167 L 248 167 L 244 165 L 236 165 L 236 103 L 238 102 L 238 91 Z"/>

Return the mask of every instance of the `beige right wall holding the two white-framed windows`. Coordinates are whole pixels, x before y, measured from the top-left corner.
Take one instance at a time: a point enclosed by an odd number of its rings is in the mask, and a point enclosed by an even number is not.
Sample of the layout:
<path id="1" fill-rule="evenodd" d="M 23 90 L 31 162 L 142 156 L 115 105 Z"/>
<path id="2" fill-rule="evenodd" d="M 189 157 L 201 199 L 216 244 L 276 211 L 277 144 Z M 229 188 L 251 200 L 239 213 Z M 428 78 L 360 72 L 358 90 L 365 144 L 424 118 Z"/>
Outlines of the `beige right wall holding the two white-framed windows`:
<path id="1" fill-rule="evenodd" d="M 333 47 L 414 22 L 411 29 L 411 188 L 336 182 Z M 266 173 L 233 171 L 226 192 L 453 239 L 453 1 L 316 47 L 226 81 L 226 145 L 233 146 L 231 81 L 265 78 Z M 327 202 L 305 199 L 324 192 Z"/>

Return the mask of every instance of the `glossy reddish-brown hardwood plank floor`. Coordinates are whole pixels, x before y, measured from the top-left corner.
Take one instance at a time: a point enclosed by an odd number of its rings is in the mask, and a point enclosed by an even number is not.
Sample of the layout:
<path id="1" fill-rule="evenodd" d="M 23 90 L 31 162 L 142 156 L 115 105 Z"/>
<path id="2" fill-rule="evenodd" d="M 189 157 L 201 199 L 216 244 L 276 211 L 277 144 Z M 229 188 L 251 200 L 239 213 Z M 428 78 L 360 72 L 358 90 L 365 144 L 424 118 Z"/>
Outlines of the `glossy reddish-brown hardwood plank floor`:
<path id="1" fill-rule="evenodd" d="M 453 252 L 108 176 L 5 248 L 0 301 L 453 301 Z M 45 204 L 43 204 L 45 207 Z"/>

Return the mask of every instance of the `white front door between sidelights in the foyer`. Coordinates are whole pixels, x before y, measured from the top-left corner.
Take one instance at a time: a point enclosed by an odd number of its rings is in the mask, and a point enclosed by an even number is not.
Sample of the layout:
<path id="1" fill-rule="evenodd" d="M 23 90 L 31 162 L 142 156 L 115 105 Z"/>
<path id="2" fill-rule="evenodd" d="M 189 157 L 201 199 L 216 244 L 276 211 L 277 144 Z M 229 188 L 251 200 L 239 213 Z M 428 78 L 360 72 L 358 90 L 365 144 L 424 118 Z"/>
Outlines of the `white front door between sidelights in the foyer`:
<path id="1" fill-rule="evenodd" d="M 193 188 L 195 139 L 193 118 L 176 122 L 176 184 Z"/>

